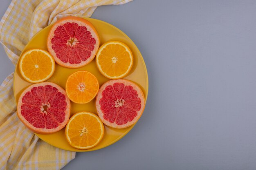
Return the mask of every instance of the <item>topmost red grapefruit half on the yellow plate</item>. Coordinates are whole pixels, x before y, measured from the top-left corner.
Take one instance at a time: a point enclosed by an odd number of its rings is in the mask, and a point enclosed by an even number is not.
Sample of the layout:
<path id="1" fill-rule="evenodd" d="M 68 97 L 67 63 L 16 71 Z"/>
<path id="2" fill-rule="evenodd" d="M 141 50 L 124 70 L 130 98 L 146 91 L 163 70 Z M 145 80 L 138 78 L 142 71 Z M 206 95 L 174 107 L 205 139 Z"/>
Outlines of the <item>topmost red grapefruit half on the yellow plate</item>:
<path id="1" fill-rule="evenodd" d="M 99 49 L 99 35 L 88 20 L 69 16 L 53 24 L 47 48 L 59 65 L 78 68 L 95 57 Z"/>

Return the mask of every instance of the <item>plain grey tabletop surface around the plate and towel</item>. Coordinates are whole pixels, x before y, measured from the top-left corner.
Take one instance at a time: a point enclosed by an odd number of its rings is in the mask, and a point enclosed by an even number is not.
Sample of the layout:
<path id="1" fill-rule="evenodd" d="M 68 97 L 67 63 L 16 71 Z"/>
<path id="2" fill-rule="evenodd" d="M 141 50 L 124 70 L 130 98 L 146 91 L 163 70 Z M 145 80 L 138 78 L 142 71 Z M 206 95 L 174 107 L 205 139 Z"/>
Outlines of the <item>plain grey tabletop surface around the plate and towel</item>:
<path id="1" fill-rule="evenodd" d="M 137 44 L 148 101 L 123 139 L 63 170 L 256 169 L 256 1 L 135 0 L 92 18 Z M 14 66 L 0 55 L 2 81 Z"/>

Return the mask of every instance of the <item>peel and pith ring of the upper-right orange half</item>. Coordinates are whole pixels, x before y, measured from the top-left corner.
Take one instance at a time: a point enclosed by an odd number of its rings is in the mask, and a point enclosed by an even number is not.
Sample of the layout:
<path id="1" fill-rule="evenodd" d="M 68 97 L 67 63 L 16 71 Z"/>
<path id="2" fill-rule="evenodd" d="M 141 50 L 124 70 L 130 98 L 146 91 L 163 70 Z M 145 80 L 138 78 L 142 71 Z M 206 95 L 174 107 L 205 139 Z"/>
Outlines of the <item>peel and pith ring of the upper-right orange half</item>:
<path id="1" fill-rule="evenodd" d="M 128 66 L 128 69 L 125 73 L 119 75 L 119 76 L 110 76 L 108 75 L 107 73 L 105 73 L 102 68 L 101 68 L 101 65 L 99 64 L 99 55 L 101 54 L 101 51 L 108 45 L 110 44 L 119 44 L 121 46 L 123 46 L 126 51 L 129 53 L 129 56 L 130 56 L 130 59 L 131 59 L 131 62 L 130 62 L 130 65 Z M 120 41 L 108 41 L 106 43 L 104 43 L 103 45 L 101 45 L 99 47 L 99 50 L 96 54 L 96 65 L 97 65 L 97 68 L 99 69 L 99 71 L 101 72 L 102 75 L 104 75 L 105 77 L 109 78 L 109 79 L 120 79 L 120 78 L 123 78 L 125 77 L 126 75 L 128 75 L 128 73 L 130 72 L 130 70 L 132 69 L 132 64 L 133 64 L 133 55 L 132 55 L 132 52 L 130 51 L 130 48 L 124 44 L 123 42 L 120 42 Z"/>

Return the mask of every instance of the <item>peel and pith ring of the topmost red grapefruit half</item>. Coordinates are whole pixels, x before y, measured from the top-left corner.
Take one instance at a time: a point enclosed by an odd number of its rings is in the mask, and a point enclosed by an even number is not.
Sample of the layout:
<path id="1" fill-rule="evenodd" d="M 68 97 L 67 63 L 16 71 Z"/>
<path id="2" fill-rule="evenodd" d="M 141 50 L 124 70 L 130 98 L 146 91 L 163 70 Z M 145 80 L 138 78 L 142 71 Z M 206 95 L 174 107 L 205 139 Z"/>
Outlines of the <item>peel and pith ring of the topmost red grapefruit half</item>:
<path id="1" fill-rule="evenodd" d="M 56 52 L 54 51 L 54 49 L 52 49 L 51 40 L 54 37 L 54 31 L 58 26 L 64 25 L 66 22 L 71 22 L 71 23 L 75 22 L 79 24 L 79 26 L 86 26 L 87 30 L 90 31 L 92 37 L 96 40 L 96 44 L 94 45 L 94 50 L 91 51 L 92 52 L 91 56 L 87 60 L 81 61 L 81 63 L 79 64 L 70 64 L 69 62 L 67 63 L 62 62 L 58 57 L 56 57 Z M 94 59 L 97 53 L 97 50 L 99 49 L 99 44 L 100 44 L 99 35 L 96 29 L 94 28 L 94 26 L 88 20 L 85 20 L 84 18 L 75 17 L 75 16 L 68 16 L 55 22 L 52 28 L 50 29 L 47 37 L 47 49 L 49 53 L 54 57 L 54 60 L 57 64 L 67 68 L 80 68 L 82 66 L 85 66 L 86 64 L 89 64 Z"/>

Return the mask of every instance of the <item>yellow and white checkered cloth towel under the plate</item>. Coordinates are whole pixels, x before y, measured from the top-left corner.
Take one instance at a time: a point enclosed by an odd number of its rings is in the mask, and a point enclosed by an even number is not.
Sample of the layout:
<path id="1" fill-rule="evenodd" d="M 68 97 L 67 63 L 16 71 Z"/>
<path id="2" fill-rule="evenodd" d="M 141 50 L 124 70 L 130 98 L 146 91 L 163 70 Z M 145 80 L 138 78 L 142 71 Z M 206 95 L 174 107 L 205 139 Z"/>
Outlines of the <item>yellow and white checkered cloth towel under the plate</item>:
<path id="1" fill-rule="evenodd" d="M 0 21 L 0 42 L 16 65 L 29 40 L 45 26 L 68 15 L 90 17 L 97 6 L 131 0 L 12 0 Z M 55 170 L 75 152 L 51 146 L 27 130 L 16 115 L 13 73 L 0 86 L 0 170 Z"/>

